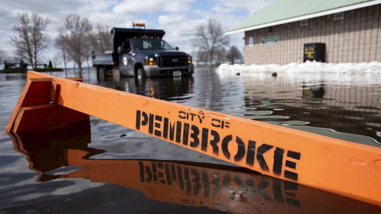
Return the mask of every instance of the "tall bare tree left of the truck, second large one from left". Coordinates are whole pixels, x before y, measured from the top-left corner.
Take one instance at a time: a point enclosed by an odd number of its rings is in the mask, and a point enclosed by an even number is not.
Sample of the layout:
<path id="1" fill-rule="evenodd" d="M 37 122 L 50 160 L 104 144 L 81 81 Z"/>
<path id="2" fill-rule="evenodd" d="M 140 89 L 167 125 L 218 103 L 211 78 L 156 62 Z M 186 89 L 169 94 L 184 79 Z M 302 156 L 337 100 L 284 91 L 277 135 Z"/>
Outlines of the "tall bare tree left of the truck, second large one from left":
<path id="1" fill-rule="evenodd" d="M 57 42 L 64 47 L 67 55 L 78 65 L 82 76 L 82 63 L 91 51 L 90 35 L 93 27 L 87 18 L 81 19 L 77 14 L 70 14 L 59 29 Z"/>

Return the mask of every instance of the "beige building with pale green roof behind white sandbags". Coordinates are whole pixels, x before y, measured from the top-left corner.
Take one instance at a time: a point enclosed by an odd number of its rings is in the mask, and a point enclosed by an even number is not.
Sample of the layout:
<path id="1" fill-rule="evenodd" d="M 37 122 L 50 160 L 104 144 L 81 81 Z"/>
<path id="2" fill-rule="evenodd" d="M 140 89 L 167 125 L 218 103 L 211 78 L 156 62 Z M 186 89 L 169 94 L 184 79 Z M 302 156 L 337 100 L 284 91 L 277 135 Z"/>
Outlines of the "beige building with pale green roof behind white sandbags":
<path id="1" fill-rule="evenodd" d="M 275 0 L 225 34 L 245 32 L 245 64 L 381 62 L 381 0 Z"/>

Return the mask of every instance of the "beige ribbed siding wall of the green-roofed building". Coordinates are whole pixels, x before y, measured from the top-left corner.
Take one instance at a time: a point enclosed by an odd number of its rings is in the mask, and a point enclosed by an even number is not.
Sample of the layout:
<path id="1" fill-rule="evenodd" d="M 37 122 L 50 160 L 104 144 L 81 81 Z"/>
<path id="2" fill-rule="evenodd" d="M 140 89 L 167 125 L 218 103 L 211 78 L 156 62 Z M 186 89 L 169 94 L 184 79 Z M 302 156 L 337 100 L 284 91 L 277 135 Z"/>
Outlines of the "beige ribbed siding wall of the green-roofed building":
<path id="1" fill-rule="evenodd" d="M 245 32 L 245 64 L 303 62 L 304 43 L 325 43 L 326 62 L 381 62 L 381 6 L 344 12 L 343 20 L 333 14 L 300 22 Z M 261 38 L 279 35 L 279 44 L 261 45 Z M 254 45 L 249 46 L 249 37 Z"/>

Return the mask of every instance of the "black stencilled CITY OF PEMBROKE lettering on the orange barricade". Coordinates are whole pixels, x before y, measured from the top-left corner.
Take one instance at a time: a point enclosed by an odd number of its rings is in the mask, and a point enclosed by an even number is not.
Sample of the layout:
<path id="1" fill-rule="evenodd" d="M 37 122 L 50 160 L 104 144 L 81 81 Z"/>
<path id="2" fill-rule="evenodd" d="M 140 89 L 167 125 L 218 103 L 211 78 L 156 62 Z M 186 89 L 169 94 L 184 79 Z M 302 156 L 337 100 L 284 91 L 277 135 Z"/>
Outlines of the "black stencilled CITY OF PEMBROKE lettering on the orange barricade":
<path id="1" fill-rule="evenodd" d="M 241 137 L 235 136 L 233 134 L 228 134 L 227 136 L 221 136 L 218 130 L 199 128 L 197 125 L 191 125 L 186 123 L 187 120 L 200 123 L 200 125 L 205 124 L 205 116 L 189 113 L 184 111 L 179 111 L 178 121 L 169 121 L 168 118 L 162 117 L 160 115 L 147 114 L 144 111 L 136 111 L 136 129 L 141 130 L 142 126 L 148 126 L 148 133 L 153 134 L 157 137 L 163 137 L 169 139 L 170 141 L 176 142 L 178 144 L 192 147 L 201 151 L 206 152 L 208 146 L 212 147 L 213 155 L 219 157 L 219 148 L 221 147 L 223 157 L 227 160 L 231 160 L 232 154 L 228 150 L 228 144 L 235 142 L 238 146 L 237 154 L 234 155 L 234 162 L 241 161 L 246 155 L 246 164 L 248 166 L 254 166 L 255 159 L 258 161 L 260 168 L 263 171 L 271 172 L 277 176 L 283 176 L 298 180 L 298 173 L 296 170 L 296 160 L 300 160 L 301 153 L 294 152 L 291 150 L 287 151 L 287 157 L 284 157 L 285 149 L 275 147 L 270 144 L 260 144 L 254 140 L 248 140 L 247 144 L 243 142 Z M 185 120 L 185 121 L 184 121 Z M 212 118 L 210 121 L 211 125 L 216 128 L 229 129 L 231 124 L 227 121 L 218 120 Z M 273 158 L 267 158 L 265 160 L 264 153 L 269 153 L 272 150 L 274 153 Z M 256 158 L 255 158 L 256 157 Z M 283 166 L 283 158 L 287 158 L 285 165 Z M 271 166 L 272 164 L 272 166 Z M 272 171 L 270 168 L 272 167 Z M 282 168 L 290 168 L 291 171 Z"/>

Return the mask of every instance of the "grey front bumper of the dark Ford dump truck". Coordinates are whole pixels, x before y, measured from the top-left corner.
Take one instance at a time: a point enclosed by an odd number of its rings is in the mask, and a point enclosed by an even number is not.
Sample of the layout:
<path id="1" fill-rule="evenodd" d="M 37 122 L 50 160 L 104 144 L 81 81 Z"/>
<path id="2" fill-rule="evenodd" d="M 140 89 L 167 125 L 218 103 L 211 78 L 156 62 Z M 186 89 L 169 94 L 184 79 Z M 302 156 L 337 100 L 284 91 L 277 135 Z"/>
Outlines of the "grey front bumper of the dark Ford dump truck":
<path id="1" fill-rule="evenodd" d="M 157 65 L 143 65 L 147 77 L 170 77 L 174 71 L 181 71 L 181 76 L 190 76 L 194 72 L 194 65 L 182 67 L 158 67 Z"/>

